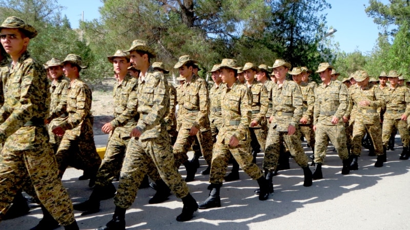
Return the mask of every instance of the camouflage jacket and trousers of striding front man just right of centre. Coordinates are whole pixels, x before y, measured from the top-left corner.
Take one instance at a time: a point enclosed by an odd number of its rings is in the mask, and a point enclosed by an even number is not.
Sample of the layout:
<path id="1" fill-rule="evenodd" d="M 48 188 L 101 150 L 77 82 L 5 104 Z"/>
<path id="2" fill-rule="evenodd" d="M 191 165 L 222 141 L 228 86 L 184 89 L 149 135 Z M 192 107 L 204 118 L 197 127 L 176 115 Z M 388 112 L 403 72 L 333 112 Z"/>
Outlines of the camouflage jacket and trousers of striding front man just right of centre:
<path id="1" fill-rule="evenodd" d="M 231 88 L 225 87 L 221 90 L 220 103 L 223 125 L 212 155 L 209 182 L 218 185 L 222 183 L 230 154 L 252 179 L 260 178 L 263 176 L 262 172 L 256 164 L 252 163 L 252 155 L 249 154 L 251 144 L 249 123 L 252 114 L 250 91 L 237 80 Z M 239 140 L 236 147 L 229 145 L 231 136 Z"/>

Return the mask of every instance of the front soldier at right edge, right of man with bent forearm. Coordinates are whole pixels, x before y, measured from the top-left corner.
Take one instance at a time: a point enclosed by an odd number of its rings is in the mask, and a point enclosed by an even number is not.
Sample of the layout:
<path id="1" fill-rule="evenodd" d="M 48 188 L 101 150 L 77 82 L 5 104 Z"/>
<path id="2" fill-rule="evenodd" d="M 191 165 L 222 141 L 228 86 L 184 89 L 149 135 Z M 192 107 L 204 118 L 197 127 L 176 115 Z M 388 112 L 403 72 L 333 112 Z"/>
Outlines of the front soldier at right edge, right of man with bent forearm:
<path id="1" fill-rule="evenodd" d="M 407 129 L 407 117 L 410 114 L 410 93 L 405 86 L 399 85 L 400 76 L 401 74 L 398 74 L 397 71 L 389 71 L 387 77 L 390 87 L 383 90 L 384 99 L 386 100 L 386 112 L 384 113 L 382 128 L 383 151 L 385 153 L 392 129 L 396 127 L 403 143 L 403 152 L 400 159 L 408 159 L 410 156 L 410 136 Z"/>

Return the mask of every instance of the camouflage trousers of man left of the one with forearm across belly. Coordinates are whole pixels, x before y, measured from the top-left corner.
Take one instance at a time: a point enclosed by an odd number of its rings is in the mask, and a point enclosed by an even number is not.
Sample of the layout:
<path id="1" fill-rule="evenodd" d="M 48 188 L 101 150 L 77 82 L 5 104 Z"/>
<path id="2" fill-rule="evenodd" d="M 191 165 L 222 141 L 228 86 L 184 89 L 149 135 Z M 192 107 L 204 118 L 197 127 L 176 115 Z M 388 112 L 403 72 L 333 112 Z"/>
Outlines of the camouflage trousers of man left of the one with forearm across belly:
<path id="1" fill-rule="evenodd" d="M 323 125 L 318 123 L 316 125 L 315 133 L 315 163 L 324 163 L 329 141 L 335 146 L 335 149 L 342 160 L 349 157 L 346 147 L 346 132 L 343 125 Z"/>

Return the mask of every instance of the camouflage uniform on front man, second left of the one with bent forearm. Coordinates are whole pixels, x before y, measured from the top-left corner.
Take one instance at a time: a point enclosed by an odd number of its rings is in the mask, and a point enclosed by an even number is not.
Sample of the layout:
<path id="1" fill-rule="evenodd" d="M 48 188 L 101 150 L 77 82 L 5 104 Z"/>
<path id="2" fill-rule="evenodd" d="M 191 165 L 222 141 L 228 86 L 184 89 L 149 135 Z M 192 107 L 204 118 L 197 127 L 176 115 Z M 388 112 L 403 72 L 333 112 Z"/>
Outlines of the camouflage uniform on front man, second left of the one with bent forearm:
<path id="1" fill-rule="evenodd" d="M 272 101 L 274 119 L 268 132 L 263 169 L 270 172 L 275 171 L 282 142 L 285 142 L 300 167 L 308 167 L 308 156 L 304 154 L 298 126 L 303 111 L 300 87 L 294 81 L 288 80 L 284 80 L 280 88 L 275 84 Z M 293 135 L 288 135 L 289 125 L 296 128 Z"/>

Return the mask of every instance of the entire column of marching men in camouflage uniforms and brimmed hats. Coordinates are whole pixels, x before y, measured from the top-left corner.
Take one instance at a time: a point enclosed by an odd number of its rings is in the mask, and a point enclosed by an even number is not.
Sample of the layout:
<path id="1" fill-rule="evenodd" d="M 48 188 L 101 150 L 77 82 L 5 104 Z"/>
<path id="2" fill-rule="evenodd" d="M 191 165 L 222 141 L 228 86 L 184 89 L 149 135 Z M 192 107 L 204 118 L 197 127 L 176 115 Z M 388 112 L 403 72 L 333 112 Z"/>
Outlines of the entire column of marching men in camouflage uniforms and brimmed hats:
<path id="1" fill-rule="evenodd" d="M 223 59 L 210 71 L 214 83 L 209 88 L 198 77 L 198 62 L 184 55 L 174 65 L 180 75 L 174 87 L 165 77 L 169 71 L 163 63 L 151 63 L 156 52 L 146 41 L 134 40 L 129 50 L 107 57 L 117 81 L 114 119 L 102 127 L 110 135 L 101 160 L 93 141 L 91 90 L 80 77 L 87 67 L 81 57 L 52 58 L 44 64 L 45 70 L 27 52 L 29 40 L 37 34 L 32 26 L 9 17 L 0 30 L 2 45 L 12 59 L 9 62 L 4 57 L 0 69 L 5 90 L 0 110 L 0 180 L 6 181 L 0 185 L 0 218 L 4 219 L 10 203 L 24 189 L 42 204 L 44 213 L 32 229 L 54 229 L 59 224 L 78 229 L 73 209 L 83 211 L 82 215 L 96 213 L 100 201 L 112 197 L 113 218 L 97 229 L 125 229 L 126 210 L 147 176 L 156 190 L 149 203 L 167 200 L 171 191 L 182 199 L 177 221 L 192 219 L 198 208 L 220 206 L 222 181 L 239 179 L 239 168 L 257 180 L 259 200 L 267 200 L 274 192 L 276 171 L 289 168 L 286 152 L 302 168 L 303 186 L 310 187 L 312 180 L 323 177 L 321 166 L 329 141 L 342 160 L 341 173 L 357 170 L 366 133 L 373 143 L 371 154 L 377 156 L 375 167 L 386 162 L 394 128 L 403 143 L 400 159 L 410 156 L 410 95 L 399 84 L 401 76 L 396 71 L 381 74 L 377 86 L 365 71 L 338 81 L 335 68 L 320 63 L 318 85 L 309 81 L 311 70 L 291 69 L 284 60 L 272 66 L 238 66 L 236 60 Z M 46 74 L 52 80 L 50 90 L 45 90 Z M 302 135 L 314 152 L 314 173 L 301 145 Z M 189 160 L 191 149 L 194 157 Z M 261 150 L 263 171 L 256 165 Z M 187 182 L 194 180 L 201 155 L 207 168 L 200 173 L 210 175 L 210 193 L 198 204 Z M 229 162 L 232 172 L 225 176 Z M 180 165 L 186 168 L 185 179 L 178 172 Z M 84 170 L 80 179 L 90 179 L 93 187 L 89 198 L 75 205 L 61 184 L 68 166 Z M 112 181 L 118 177 L 116 189 Z"/>

